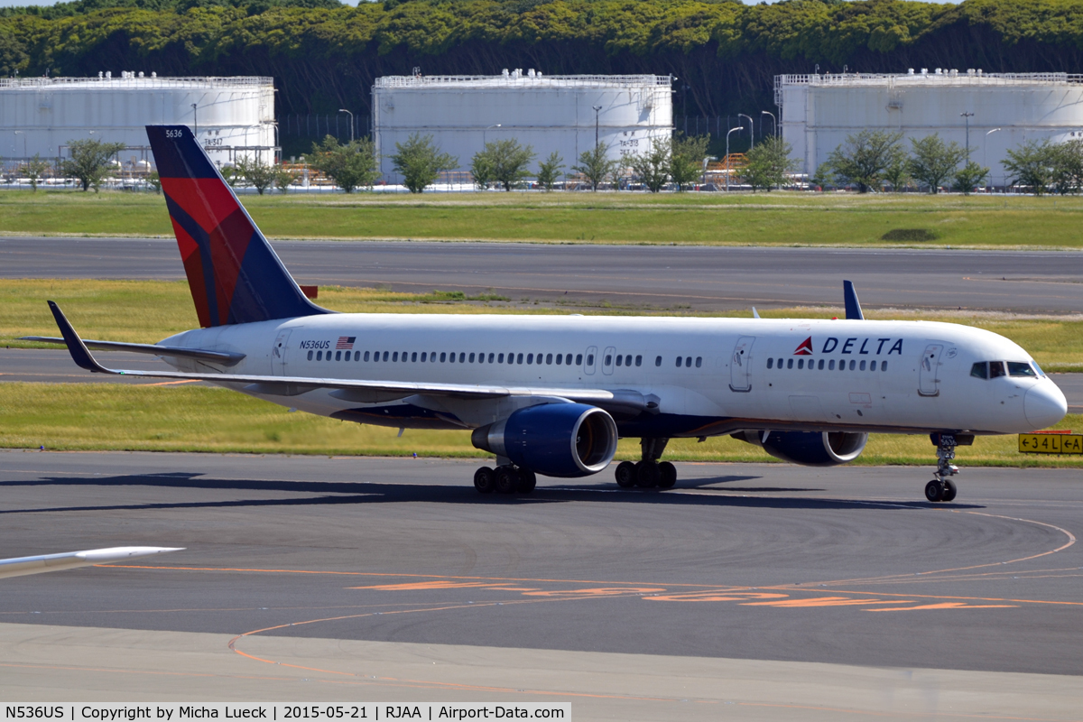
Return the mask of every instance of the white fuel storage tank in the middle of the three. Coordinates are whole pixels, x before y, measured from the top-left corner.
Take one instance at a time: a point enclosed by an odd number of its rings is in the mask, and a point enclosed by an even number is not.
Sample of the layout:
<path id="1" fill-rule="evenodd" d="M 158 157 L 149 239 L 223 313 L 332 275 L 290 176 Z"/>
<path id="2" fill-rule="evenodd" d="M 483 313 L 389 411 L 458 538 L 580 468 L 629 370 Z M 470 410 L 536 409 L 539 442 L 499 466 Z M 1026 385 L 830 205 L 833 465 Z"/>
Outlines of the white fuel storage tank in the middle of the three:
<path id="1" fill-rule="evenodd" d="M 669 76 L 546 76 L 505 70 L 498 76 L 389 76 L 373 87 L 373 131 L 380 170 L 399 183 L 390 156 L 410 134 L 432 135 L 470 168 L 486 142 L 514 139 L 537 154 L 556 150 L 564 170 L 603 143 L 611 158 L 640 153 L 673 132 Z"/>

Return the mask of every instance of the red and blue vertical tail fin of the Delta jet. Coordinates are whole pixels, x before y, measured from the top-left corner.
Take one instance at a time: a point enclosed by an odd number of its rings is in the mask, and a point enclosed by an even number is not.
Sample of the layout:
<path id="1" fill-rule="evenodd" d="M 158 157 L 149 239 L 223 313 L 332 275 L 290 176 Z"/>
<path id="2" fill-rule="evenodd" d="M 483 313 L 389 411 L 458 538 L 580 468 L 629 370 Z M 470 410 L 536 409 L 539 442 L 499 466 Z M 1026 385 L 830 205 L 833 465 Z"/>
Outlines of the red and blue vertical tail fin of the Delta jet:
<path id="1" fill-rule="evenodd" d="M 187 126 L 147 126 L 199 325 L 330 313 L 304 297 Z"/>

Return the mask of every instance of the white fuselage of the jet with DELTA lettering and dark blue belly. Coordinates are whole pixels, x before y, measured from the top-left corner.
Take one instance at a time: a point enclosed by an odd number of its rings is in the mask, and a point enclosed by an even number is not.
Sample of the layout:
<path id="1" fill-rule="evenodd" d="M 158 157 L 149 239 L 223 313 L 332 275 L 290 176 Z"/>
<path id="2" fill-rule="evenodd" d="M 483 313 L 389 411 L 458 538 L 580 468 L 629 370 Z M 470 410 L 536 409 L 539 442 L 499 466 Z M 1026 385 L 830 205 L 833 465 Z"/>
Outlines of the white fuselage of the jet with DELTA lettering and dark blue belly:
<path id="1" fill-rule="evenodd" d="M 1004 434 L 1044 428 L 1067 409 L 1060 390 L 1014 342 L 930 321 L 331 314 L 192 330 L 164 343 L 247 355 L 230 368 L 167 358 L 187 371 L 629 390 L 655 406 L 616 417 L 626 436 L 739 429 Z M 986 362 L 1034 370 L 971 376 Z M 509 408 L 508 399 L 389 394 L 358 403 L 334 394 L 252 393 L 404 428 L 475 428 Z"/>

